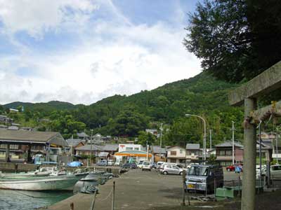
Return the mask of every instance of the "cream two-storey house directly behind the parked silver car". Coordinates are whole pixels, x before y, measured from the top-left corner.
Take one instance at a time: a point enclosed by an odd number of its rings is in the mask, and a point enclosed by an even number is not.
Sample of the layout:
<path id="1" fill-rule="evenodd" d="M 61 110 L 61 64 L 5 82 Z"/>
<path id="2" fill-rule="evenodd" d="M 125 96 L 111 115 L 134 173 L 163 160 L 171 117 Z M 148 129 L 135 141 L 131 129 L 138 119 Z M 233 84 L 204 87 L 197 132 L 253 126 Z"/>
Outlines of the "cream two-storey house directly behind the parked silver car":
<path id="1" fill-rule="evenodd" d="M 186 152 L 181 146 L 171 146 L 166 148 L 167 162 L 185 163 Z"/>

